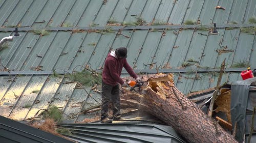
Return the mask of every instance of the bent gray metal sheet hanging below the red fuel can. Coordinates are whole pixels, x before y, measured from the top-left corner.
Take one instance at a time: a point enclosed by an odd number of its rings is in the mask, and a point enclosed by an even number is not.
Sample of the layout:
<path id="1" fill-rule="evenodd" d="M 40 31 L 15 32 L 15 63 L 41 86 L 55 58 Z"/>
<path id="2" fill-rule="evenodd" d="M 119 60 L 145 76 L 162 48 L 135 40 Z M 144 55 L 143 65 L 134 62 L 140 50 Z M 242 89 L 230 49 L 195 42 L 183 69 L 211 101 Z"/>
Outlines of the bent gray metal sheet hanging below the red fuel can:
<path id="1" fill-rule="evenodd" d="M 248 137 L 252 122 L 256 128 L 256 118 L 252 120 L 253 107 L 256 107 L 256 77 L 231 83 L 231 120 L 234 128 L 237 123 L 236 139 L 242 142 L 244 134 Z M 252 132 L 255 138 L 255 130 Z M 255 142 L 252 140 L 251 142 Z M 247 141 L 246 141 L 247 142 Z"/>

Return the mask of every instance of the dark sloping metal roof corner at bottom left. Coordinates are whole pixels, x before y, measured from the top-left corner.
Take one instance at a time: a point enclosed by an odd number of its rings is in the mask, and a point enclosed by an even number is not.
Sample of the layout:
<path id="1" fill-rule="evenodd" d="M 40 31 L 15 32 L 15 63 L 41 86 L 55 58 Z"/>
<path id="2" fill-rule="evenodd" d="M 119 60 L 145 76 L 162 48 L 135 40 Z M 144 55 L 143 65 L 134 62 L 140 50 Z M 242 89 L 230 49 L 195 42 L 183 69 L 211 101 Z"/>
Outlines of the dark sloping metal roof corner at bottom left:
<path id="1" fill-rule="evenodd" d="M 0 140 L 1 142 L 63 142 L 73 141 L 58 137 L 51 133 L 41 131 L 23 123 L 19 123 L 0 116 Z"/>

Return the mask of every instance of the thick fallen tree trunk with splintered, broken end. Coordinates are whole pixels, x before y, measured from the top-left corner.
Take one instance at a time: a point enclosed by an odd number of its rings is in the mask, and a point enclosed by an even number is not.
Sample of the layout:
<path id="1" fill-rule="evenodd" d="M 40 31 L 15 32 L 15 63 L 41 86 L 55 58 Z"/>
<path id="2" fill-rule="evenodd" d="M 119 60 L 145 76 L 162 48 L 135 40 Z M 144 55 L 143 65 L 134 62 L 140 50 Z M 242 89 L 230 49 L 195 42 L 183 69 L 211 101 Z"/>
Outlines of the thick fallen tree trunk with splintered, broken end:
<path id="1" fill-rule="evenodd" d="M 175 87 L 173 74 L 146 75 L 139 92 L 123 88 L 121 103 L 140 106 L 172 126 L 189 142 L 237 142 Z M 138 89 L 137 89 L 138 90 Z"/>

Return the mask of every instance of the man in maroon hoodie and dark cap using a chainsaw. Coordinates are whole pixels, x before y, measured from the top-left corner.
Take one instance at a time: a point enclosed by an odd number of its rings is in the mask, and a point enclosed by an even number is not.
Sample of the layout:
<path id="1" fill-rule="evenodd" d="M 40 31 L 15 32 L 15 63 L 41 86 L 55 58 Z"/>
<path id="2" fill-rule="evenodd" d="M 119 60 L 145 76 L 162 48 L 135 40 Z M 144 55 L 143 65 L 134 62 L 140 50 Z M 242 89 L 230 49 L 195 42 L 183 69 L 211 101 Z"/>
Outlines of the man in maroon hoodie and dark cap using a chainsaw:
<path id="1" fill-rule="evenodd" d="M 102 104 L 101 104 L 101 123 L 112 123 L 112 120 L 108 117 L 109 104 L 113 103 L 113 120 L 118 121 L 121 119 L 120 114 L 120 96 L 119 96 L 119 84 L 122 87 L 126 87 L 127 83 L 120 77 L 122 68 L 124 69 L 138 82 L 141 79 L 134 73 L 131 66 L 126 61 L 127 49 L 125 47 L 117 48 L 115 51 L 111 51 L 106 57 L 104 69 L 102 71 Z"/>

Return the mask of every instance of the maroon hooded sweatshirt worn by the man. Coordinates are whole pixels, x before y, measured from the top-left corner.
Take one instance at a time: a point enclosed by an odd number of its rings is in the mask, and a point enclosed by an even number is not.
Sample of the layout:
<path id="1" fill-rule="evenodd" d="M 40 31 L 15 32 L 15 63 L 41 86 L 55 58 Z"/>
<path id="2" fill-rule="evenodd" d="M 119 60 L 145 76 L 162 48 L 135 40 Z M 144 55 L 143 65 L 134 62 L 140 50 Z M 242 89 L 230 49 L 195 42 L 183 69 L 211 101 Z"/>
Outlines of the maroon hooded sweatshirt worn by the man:
<path id="1" fill-rule="evenodd" d="M 117 83 L 123 84 L 124 81 L 120 77 L 123 67 L 133 78 L 136 79 L 138 77 L 127 63 L 126 58 L 118 59 L 109 53 L 102 71 L 102 81 L 113 86 Z"/>

